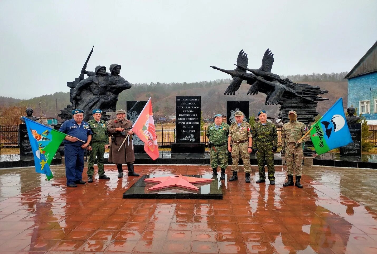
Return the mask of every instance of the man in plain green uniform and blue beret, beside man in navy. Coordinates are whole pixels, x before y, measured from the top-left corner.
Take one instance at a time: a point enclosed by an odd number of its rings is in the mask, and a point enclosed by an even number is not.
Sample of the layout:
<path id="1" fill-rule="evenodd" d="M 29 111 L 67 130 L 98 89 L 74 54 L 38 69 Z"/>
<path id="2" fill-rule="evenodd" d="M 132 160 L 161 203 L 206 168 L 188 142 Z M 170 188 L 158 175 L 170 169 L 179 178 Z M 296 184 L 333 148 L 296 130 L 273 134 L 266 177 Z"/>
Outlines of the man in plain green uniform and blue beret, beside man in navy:
<path id="1" fill-rule="evenodd" d="M 101 120 L 102 110 L 94 109 L 93 119 L 88 121 L 90 129 L 93 132 L 92 140 L 88 146 L 88 150 L 91 151 L 88 161 L 88 183 L 93 182 L 93 173 L 94 173 L 94 159 L 97 156 L 97 165 L 98 165 L 98 179 L 109 180 L 110 177 L 105 175 L 103 169 L 103 154 L 105 149 L 109 148 L 109 135 L 107 134 L 107 126 L 104 120 Z"/>

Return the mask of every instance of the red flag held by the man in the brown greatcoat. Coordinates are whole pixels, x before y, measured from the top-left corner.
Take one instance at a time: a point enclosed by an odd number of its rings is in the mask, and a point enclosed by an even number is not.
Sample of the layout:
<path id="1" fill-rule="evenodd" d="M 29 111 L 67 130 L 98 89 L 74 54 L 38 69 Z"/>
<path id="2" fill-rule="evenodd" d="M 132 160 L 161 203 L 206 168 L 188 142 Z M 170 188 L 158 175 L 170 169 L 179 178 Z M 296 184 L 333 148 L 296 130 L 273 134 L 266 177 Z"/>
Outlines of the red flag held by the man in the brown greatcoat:
<path id="1" fill-rule="evenodd" d="M 131 129 L 144 142 L 144 150 L 152 158 L 156 160 L 159 157 L 155 121 L 153 119 L 152 102 L 150 98 L 141 111 L 138 119 Z"/>

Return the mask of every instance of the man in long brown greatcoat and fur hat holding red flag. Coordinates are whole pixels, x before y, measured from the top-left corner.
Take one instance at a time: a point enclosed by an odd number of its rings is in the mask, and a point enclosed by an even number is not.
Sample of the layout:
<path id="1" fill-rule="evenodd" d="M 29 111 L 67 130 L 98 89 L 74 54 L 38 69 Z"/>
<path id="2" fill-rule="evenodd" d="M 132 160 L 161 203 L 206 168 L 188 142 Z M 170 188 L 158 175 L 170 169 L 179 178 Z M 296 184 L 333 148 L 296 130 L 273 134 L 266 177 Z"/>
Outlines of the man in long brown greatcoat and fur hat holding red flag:
<path id="1" fill-rule="evenodd" d="M 132 135 L 133 131 L 130 131 L 127 128 L 132 127 L 132 122 L 125 119 L 126 111 L 124 109 L 119 109 L 116 111 L 116 119 L 110 120 L 107 124 L 107 132 L 111 137 L 111 145 L 109 152 L 109 162 L 116 164 L 118 168 L 118 177 L 123 177 L 122 164 L 127 163 L 128 175 L 130 176 L 139 176 L 133 171 L 133 162 L 135 162 L 135 154 L 133 153 L 133 143 Z M 118 149 L 123 143 L 126 135 L 129 135 L 124 142 L 123 146 L 118 152 Z"/>

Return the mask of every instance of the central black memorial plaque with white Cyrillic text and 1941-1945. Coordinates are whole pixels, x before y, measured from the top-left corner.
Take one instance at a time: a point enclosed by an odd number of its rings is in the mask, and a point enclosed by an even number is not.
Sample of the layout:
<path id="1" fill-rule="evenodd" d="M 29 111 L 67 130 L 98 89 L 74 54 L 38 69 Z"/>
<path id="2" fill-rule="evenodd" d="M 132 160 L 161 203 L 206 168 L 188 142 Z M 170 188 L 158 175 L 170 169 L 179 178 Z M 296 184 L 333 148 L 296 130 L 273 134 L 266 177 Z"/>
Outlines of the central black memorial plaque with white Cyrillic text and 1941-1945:
<path id="1" fill-rule="evenodd" d="M 200 143 L 200 96 L 175 97 L 176 143 Z"/>

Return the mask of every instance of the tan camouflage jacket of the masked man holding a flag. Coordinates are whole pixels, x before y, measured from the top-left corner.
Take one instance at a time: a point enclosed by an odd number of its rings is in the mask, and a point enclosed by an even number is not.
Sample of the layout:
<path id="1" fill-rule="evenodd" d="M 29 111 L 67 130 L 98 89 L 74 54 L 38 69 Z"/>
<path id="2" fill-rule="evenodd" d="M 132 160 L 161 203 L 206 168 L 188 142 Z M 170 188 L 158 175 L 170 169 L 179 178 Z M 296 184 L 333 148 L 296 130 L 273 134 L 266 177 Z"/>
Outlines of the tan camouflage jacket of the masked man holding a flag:
<path id="1" fill-rule="evenodd" d="M 299 141 L 305 133 L 308 131 L 308 127 L 305 123 L 293 121 L 283 125 L 282 128 L 282 146 L 285 147 L 287 143 L 296 143 Z M 306 142 L 310 139 L 310 135 L 307 135 L 302 142 Z"/>

